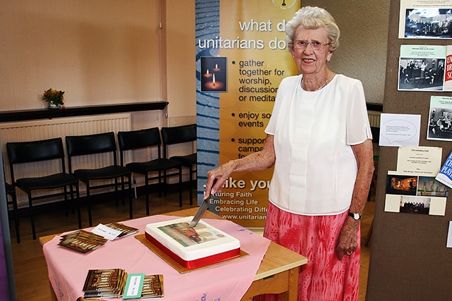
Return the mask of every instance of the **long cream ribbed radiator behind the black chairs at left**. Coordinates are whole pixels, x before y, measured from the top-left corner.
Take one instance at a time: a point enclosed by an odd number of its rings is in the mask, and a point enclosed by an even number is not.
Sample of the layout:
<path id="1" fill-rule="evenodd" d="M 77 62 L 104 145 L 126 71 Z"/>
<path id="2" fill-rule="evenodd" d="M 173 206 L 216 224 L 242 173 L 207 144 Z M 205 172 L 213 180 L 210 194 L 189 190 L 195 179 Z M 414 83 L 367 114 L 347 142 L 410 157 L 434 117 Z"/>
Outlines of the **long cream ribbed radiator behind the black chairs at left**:
<path id="1" fill-rule="evenodd" d="M 1 151 L 4 154 L 6 182 L 11 183 L 6 142 L 25 142 L 61 137 L 63 144 L 65 145 L 66 136 L 90 135 L 107 132 L 114 132 L 116 134 L 119 130 L 131 130 L 130 113 L 0 123 Z M 130 154 L 128 155 L 130 156 Z M 80 156 L 74 159 L 73 166 L 76 168 L 100 167 L 113 163 L 112 159 L 105 154 Z M 69 172 L 69 169 L 67 169 L 67 160 L 66 153 L 66 172 Z M 21 178 L 23 176 L 42 176 L 49 172 L 59 172 L 59 162 L 50 161 L 37 164 L 19 164 L 14 171 L 16 178 Z M 83 183 L 81 183 L 80 189 L 82 193 L 85 191 Z M 16 190 L 16 193 L 19 207 L 23 207 L 24 205 L 27 206 L 28 198 L 25 193 L 18 189 Z"/>

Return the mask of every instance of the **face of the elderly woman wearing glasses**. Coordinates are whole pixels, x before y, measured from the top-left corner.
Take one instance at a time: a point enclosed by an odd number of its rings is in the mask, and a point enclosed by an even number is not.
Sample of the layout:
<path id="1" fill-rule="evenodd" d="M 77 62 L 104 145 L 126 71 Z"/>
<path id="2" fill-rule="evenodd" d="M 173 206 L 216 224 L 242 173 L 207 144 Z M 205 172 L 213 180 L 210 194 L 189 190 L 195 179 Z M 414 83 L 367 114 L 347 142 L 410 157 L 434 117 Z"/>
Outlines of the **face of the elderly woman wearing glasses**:
<path id="1" fill-rule="evenodd" d="M 295 40 L 329 42 L 328 32 L 323 27 L 306 29 L 299 26 L 295 31 Z M 312 49 L 311 44 L 308 44 L 305 49 L 295 47 L 292 49 L 292 57 L 295 59 L 299 72 L 303 75 L 325 73 L 326 61 L 329 61 L 331 56 L 333 56 L 333 52 L 329 51 L 328 45 L 321 50 Z"/>

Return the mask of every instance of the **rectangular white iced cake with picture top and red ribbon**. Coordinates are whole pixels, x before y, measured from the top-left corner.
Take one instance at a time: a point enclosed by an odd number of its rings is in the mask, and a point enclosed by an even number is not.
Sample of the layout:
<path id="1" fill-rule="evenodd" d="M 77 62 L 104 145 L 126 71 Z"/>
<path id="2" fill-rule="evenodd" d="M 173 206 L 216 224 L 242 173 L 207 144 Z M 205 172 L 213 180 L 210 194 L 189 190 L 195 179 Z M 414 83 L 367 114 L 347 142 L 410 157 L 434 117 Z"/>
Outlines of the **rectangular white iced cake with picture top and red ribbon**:
<path id="1" fill-rule="evenodd" d="M 186 268 L 197 268 L 239 257 L 240 241 L 231 235 L 199 221 L 187 229 L 193 216 L 145 227 L 145 238 Z"/>

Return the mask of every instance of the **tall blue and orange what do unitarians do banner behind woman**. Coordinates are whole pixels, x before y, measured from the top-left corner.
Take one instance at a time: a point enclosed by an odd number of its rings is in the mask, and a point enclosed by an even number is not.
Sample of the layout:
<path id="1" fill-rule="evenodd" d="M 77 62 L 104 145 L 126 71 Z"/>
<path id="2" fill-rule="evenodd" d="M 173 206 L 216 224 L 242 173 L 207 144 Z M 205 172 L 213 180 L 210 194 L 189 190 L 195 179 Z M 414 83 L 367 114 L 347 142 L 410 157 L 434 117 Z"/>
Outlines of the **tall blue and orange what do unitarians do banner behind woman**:
<path id="1" fill-rule="evenodd" d="M 196 0 L 198 204 L 207 171 L 262 149 L 280 81 L 297 74 L 285 24 L 300 0 Z M 209 210 L 265 224 L 273 168 L 232 173 Z"/>

